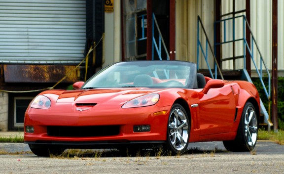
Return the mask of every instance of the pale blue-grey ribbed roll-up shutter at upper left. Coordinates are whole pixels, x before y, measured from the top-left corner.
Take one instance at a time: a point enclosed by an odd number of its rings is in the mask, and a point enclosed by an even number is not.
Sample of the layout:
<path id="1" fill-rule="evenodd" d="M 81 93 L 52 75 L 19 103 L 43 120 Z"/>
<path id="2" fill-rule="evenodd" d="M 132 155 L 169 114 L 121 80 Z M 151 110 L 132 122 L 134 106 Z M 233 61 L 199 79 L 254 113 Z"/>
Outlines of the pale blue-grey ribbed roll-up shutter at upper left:
<path id="1" fill-rule="evenodd" d="M 0 63 L 80 62 L 85 21 L 85 0 L 1 0 Z"/>

